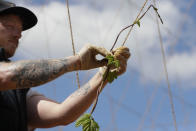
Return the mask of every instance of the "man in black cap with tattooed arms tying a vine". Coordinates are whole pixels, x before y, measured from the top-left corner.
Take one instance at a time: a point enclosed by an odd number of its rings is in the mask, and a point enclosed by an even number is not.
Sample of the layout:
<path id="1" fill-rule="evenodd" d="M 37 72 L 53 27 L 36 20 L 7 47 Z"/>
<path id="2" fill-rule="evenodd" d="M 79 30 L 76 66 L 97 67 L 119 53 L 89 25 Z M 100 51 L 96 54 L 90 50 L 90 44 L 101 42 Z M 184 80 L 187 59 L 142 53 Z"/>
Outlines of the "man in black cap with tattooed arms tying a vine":
<path id="1" fill-rule="evenodd" d="M 29 90 L 67 72 L 102 67 L 107 61 L 96 60 L 95 56 L 110 54 L 104 48 L 87 45 L 78 55 L 67 58 L 9 61 L 18 47 L 21 32 L 36 23 L 37 18 L 30 10 L 0 1 L 0 130 L 27 131 L 27 127 L 67 125 L 89 108 L 102 82 L 104 68 L 62 103 Z M 120 61 L 120 67 L 116 69 L 120 75 L 126 70 L 130 53 L 126 47 L 113 53 Z M 106 84 L 107 81 L 104 86 Z"/>

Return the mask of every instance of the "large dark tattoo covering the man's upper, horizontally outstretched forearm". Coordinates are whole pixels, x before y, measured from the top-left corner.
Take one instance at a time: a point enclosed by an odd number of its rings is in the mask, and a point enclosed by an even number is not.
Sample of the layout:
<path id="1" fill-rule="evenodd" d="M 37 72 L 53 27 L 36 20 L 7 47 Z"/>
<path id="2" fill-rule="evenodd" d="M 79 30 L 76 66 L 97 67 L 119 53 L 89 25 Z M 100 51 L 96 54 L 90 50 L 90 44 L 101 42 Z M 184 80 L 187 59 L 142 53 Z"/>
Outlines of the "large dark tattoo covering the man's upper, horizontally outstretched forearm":
<path id="1" fill-rule="evenodd" d="M 16 82 L 17 88 L 38 86 L 75 68 L 69 64 L 67 59 L 16 62 L 12 65 L 11 80 Z"/>

